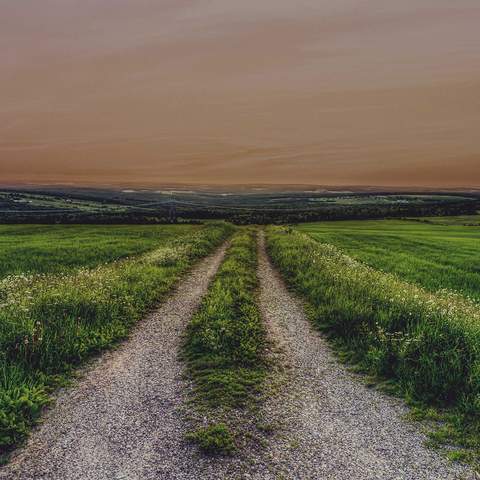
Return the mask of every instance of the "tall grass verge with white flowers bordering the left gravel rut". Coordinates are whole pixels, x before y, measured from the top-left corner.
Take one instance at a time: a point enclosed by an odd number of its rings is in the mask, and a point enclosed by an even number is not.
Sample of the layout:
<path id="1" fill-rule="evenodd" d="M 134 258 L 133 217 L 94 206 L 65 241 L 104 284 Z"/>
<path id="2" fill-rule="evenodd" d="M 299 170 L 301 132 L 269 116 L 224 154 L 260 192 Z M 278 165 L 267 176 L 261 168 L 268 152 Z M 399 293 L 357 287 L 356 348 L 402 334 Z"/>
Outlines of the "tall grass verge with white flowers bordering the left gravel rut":
<path id="1" fill-rule="evenodd" d="M 209 224 L 188 236 L 167 230 L 156 249 L 137 258 L 0 281 L 0 454 L 25 438 L 59 382 L 125 338 L 232 227 Z"/>

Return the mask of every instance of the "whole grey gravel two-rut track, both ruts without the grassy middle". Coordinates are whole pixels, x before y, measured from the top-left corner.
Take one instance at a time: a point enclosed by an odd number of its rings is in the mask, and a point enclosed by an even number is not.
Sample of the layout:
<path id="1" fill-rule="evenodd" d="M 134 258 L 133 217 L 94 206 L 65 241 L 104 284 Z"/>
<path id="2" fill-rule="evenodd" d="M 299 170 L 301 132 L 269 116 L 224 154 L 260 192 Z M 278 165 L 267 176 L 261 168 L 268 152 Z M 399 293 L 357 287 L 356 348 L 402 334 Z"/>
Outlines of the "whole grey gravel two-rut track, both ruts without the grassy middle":
<path id="1" fill-rule="evenodd" d="M 0 480 L 454 480 L 471 479 L 423 446 L 401 401 L 366 388 L 336 360 L 285 287 L 259 238 L 259 302 L 272 345 L 288 364 L 267 398 L 263 447 L 233 458 L 185 441 L 188 382 L 181 338 L 225 247 L 204 259 L 117 350 L 59 396 Z M 274 350 L 272 349 L 272 350 Z M 279 374 L 280 377 L 283 374 Z"/>

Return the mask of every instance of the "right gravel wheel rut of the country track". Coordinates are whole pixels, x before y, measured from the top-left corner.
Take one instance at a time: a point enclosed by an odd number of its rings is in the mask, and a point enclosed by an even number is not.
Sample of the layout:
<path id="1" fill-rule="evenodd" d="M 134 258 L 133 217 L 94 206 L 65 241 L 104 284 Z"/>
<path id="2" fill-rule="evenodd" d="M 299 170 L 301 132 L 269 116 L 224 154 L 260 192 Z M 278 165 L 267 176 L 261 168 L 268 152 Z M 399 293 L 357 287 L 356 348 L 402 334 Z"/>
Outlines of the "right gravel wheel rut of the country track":
<path id="1" fill-rule="evenodd" d="M 259 250 L 263 315 L 290 362 L 288 396 L 275 400 L 285 431 L 267 453 L 277 478 L 475 478 L 423 446 L 425 437 L 419 425 L 404 420 L 400 400 L 366 388 L 335 360 L 272 268 L 263 235 Z"/>

